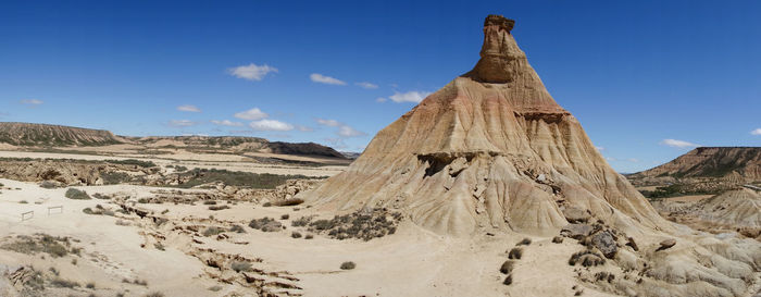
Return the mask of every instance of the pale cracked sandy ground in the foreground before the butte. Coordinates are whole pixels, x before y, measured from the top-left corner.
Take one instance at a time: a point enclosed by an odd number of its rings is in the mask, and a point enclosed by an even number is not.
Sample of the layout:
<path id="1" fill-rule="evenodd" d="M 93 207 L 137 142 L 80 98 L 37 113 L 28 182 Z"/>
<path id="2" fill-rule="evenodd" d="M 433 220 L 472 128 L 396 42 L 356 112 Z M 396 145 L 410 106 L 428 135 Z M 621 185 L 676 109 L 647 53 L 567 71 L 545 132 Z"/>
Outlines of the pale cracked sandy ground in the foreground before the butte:
<path id="1" fill-rule="evenodd" d="M 567 265 L 569 255 L 578 249 L 571 240 L 551 244 L 551 238 L 532 237 L 534 243 L 524 248 L 511 286 L 501 284 L 504 275 L 498 270 L 507 260 L 507 250 L 524 236 L 498 234 L 481 236 L 475 242 L 457 239 L 432 234 L 409 221 L 403 222 L 396 234 L 371 242 L 337 240 L 323 235 L 315 235 L 314 239 L 291 238 L 295 227 L 289 222 L 284 222 L 288 230 L 282 232 L 264 233 L 247 226 L 246 234 L 230 233 L 226 240 L 196 236 L 198 243 L 167 231 L 164 235 L 170 239 L 165 242 L 165 251 L 160 251 L 140 247 L 146 243 L 146 230 L 138 226 L 140 222 L 121 226 L 115 224 L 118 218 L 82 212 L 85 207 L 108 206 L 107 200 L 72 200 L 63 196 L 65 189 L 42 189 L 35 184 L 9 180 L 0 180 L 0 183 L 12 188 L 0 194 L 0 237 L 34 233 L 71 236 L 80 240 L 85 250 L 76 265 L 71 263 L 76 256 L 41 259 L 40 255 L 8 250 L 0 250 L 0 263 L 32 264 L 42 270 L 54 267 L 62 276 L 82 284 L 97 284 L 95 290 L 78 288 L 75 296 L 87 296 L 91 292 L 103 296 L 117 292 L 142 296 L 155 290 L 166 296 L 229 296 L 232 292 L 255 296 L 245 287 L 208 277 L 204 271 L 209 268 L 188 253 L 194 249 L 262 259 L 255 268 L 287 272 L 298 279 L 295 284 L 301 289 L 297 292 L 303 296 L 573 296 L 572 287 L 582 286 L 573 277 L 575 268 Z M 133 197 L 150 196 L 150 190 L 154 189 L 128 185 L 80 188 L 90 194 L 127 193 Z M 28 203 L 20 203 L 21 200 Z M 48 215 L 48 207 L 57 206 L 63 207 L 63 213 Z M 286 221 L 302 215 L 326 215 L 311 209 L 296 211 L 292 207 L 263 208 L 249 203 L 216 212 L 201 203 L 140 207 L 157 212 L 169 210 L 166 218 L 179 224 L 210 214 L 216 220 L 241 225 L 254 218 L 279 218 L 286 213 L 290 215 Z M 21 213 L 25 211 L 34 211 L 35 218 L 22 222 Z M 345 261 L 355 262 L 357 269 L 340 270 Z M 148 286 L 125 284 L 124 279 L 146 280 Z M 546 283 L 553 285 L 541 285 Z M 212 286 L 222 289 L 209 290 Z M 73 293 L 67 290 L 66 294 Z M 584 296 L 609 295 L 585 289 Z"/>

